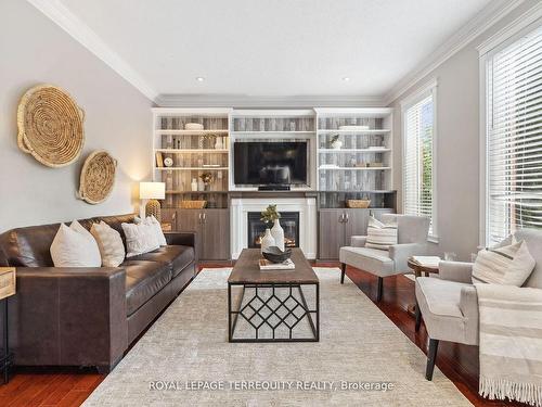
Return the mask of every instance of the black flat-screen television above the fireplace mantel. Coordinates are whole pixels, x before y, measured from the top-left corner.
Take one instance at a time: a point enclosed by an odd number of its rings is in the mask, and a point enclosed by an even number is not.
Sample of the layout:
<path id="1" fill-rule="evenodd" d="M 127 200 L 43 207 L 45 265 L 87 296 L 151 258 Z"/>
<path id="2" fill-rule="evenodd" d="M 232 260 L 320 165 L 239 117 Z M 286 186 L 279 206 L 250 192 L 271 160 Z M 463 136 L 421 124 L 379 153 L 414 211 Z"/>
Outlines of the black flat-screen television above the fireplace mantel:
<path id="1" fill-rule="evenodd" d="M 235 185 L 307 185 L 307 142 L 240 142 L 233 147 Z"/>

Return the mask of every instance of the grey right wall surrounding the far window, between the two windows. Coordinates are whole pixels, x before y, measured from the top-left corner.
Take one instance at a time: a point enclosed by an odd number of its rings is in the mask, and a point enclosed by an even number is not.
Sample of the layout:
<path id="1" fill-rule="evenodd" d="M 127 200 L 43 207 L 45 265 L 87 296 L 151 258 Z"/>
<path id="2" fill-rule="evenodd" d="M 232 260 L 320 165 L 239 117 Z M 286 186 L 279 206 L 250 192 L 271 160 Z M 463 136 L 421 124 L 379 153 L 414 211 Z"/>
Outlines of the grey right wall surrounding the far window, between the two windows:
<path id="1" fill-rule="evenodd" d="M 429 80 L 437 90 L 437 193 L 439 244 L 437 254 L 454 252 L 469 260 L 479 244 L 479 65 L 476 47 L 535 5 L 527 0 L 482 33 L 391 104 L 393 115 L 395 174 L 402 204 L 402 128 L 400 102 Z"/>

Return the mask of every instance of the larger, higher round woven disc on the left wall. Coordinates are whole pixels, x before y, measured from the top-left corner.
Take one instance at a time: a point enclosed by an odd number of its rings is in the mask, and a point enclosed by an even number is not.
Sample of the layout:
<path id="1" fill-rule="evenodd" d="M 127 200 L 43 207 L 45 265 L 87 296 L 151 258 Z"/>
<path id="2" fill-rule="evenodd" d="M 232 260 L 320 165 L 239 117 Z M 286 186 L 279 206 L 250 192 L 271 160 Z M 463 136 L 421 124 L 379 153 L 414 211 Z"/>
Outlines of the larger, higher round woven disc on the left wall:
<path id="1" fill-rule="evenodd" d="M 18 104 L 18 148 L 49 167 L 69 165 L 85 144 L 83 119 L 82 110 L 62 89 L 34 87 Z"/>

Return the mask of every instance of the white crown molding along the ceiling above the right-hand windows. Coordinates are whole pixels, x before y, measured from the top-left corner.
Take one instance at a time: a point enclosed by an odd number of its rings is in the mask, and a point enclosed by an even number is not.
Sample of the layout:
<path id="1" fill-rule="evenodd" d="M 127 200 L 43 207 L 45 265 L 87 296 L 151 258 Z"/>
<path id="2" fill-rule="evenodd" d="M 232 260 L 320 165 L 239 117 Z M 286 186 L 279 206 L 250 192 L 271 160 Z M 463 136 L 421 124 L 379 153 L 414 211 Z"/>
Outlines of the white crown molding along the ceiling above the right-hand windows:
<path id="1" fill-rule="evenodd" d="M 434 69 L 448 61 L 456 52 L 486 31 L 525 0 L 498 0 L 481 10 L 452 37 L 444 41 L 430 56 L 404 76 L 384 96 L 386 105 L 393 103 L 401 94 L 429 75 Z"/>

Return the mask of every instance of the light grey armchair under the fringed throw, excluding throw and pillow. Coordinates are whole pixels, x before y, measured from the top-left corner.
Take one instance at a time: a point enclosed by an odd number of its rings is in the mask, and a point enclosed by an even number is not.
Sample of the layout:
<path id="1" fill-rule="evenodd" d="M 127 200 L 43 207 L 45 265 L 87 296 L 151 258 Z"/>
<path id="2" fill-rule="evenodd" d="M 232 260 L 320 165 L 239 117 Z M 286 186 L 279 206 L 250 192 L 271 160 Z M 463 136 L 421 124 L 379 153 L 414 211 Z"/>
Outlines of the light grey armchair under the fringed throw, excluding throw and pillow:
<path id="1" fill-rule="evenodd" d="M 537 262 L 524 287 L 542 289 L 542 230 L 522 229 L 515 236 L 527 242 Z M 478 295 L 472 272 L 470 263 L 440 262 L 438 278 L 416 279 L 416 331 L 423 318 L 429 334 L 427 380 L 433 379 L 439 341 L 478 345 Z"/>

